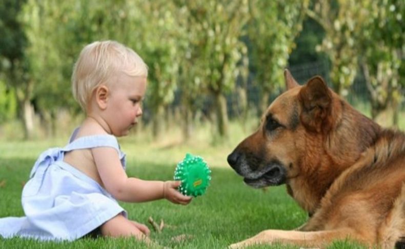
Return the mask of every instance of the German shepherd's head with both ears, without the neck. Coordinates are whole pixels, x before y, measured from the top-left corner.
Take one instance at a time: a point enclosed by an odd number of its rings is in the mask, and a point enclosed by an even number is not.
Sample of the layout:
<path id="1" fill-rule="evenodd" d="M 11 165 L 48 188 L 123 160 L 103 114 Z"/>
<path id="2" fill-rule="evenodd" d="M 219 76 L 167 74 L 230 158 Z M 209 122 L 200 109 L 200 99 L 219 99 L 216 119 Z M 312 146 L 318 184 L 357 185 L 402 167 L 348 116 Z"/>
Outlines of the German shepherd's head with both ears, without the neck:
<path id="1" fill-rule="evenodd" d="M 314 158 L 322 153 L 322 135 L 340 115 L 340 105 L 332 111 L 339 97 L 320 76 L 300 86 L 286 70 L 285 80 L 287 91 L 269 106 L 258 130 L 228 156 L 231 167 L 255 188 L 286 183 L 302 171 L 308 175 L 311 168 L 300 167 L 305 154 L 315 154 L 311 164 L 320 163 Z"/>

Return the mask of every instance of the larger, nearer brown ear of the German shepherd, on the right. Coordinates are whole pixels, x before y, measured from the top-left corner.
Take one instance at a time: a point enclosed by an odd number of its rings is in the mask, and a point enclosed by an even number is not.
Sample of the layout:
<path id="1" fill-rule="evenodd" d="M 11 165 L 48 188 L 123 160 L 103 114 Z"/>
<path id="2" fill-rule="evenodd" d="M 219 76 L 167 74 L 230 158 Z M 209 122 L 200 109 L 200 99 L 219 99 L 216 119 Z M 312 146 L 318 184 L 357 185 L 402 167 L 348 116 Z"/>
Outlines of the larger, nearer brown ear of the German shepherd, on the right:
<path id="1" fill-rule="evenodd" d="M 309 130 L 327 131 L 330 124 L 332 92 L 320 76 L 310 79 L 302 86 L 298 99 L 302 106 L 301 123 Z"/>

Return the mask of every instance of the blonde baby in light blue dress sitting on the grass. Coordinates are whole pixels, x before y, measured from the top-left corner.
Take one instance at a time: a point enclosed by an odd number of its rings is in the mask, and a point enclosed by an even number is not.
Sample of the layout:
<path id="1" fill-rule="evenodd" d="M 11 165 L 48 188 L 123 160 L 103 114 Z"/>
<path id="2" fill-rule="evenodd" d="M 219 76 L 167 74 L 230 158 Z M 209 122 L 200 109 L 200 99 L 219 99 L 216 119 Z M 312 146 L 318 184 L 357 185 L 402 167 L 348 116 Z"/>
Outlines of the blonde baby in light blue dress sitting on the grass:
<path id="1" fill-rule="evenodd" d="M 0 219 L 0 235 L 74 240 L 85 235 L 148 239 L 146 225 L 131 221 L 116 200 L 166 198 L 187 205 L 179 181 L 145 181 L 125 173 L 116 137 L 126 136 L 142 115 L 148 69 L 132 49 L 94 42 L 79 55 L 73 95 L 86 119 L 64 148 L 43 152 L 22 194 L 25 217 Z"/>

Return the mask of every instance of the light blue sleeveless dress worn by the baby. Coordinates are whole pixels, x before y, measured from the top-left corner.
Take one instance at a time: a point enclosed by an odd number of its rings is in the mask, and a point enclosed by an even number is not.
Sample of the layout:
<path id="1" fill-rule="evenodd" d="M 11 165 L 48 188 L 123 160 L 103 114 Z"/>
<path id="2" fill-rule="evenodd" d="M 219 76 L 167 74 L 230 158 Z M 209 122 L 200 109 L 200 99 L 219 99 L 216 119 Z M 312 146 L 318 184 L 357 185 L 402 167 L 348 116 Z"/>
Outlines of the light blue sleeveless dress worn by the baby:
<path id="1" fill-rule="evenodd" d="M 90 233 L 126 211 L 96 181 L 63 161 L 67 151 L 94 147 L 113 147 L 125 169 L 125 154 L 111 135 L 81 137 L 64 148 L 43 152 L 25 184 L 22 204 L 25 217 L 0 218 L 0 235 L 40 240 L 75 240 Z"/>

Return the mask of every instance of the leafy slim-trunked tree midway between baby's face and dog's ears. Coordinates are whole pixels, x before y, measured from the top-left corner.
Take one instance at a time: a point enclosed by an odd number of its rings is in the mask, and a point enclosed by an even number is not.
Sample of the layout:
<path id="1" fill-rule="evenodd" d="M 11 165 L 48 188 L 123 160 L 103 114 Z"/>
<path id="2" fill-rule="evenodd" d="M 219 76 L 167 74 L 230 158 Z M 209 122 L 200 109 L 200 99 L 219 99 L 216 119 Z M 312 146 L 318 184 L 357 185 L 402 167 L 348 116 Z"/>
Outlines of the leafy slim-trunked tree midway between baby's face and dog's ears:
<path id="1" fill-rule="evenodd" d="M 187 20 L 185 30 L 190 41 L 187 45 L 191 47 L 184 52 L 186 61 L 181 62 L 181 70 L 186 73 L 193 62 L 195 72 L 186 83 L 188 87 L 183 88 L 184 93 L 194 91 L 188 84 L 199 85 L 199 94 L 202 90 L 208 92 L 214 102 L 218 134 L 226 137 L 228 110 L 225 94 L 234 87 L 238 74 L 237 63 L 242 54 L 246 53 L 245 44 L 239 38 L 248 20 L 248 2 L 178 0 L 175 3 L 183 11 L 184 20 Z"/>

